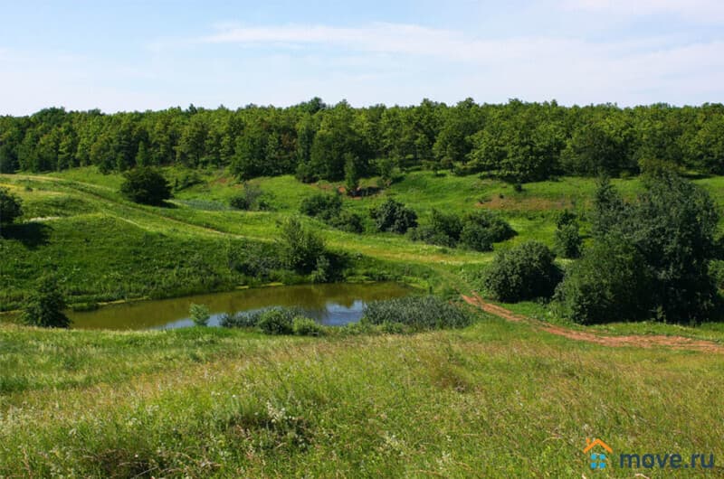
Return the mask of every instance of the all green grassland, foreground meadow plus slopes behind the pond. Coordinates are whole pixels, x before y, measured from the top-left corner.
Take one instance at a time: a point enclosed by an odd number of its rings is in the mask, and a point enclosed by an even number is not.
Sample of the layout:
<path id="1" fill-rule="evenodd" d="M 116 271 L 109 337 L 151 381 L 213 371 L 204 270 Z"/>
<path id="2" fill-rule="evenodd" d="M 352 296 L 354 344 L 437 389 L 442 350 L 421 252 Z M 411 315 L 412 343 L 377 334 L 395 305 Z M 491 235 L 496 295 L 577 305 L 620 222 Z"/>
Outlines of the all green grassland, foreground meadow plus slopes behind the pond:
<path id="1" fill-rule="evenodd" d="M 186 172 L 166 174 L 173 183 Z M 20 224 L 0 240 L 0 308 L 21 306 L 45 270 L 65 278 L 73 303 L 249 284 L 226 266 L 226 249 L 268 247 L 278 221 L 296 214 L 303 198 L 338 187 L 257 179 L 273 211 L 243 212 L 226 207 L 239 183 L 221 172 L 201 178 L 177 192 L 171 207 L 157 208 L 125 201 L 120 176 L 92 168 L 0 175 L 0 186 L 24 201 Z M 642 188 L 635 178 L 614 183 L 626 196 Z M 697 183 L 724 202 L 724 178 Z M 414 172 L 344 203 L 367 218 L 392 196 L 421 223 L 433 208 L 500 211 L 519 233 L 495 245 L 502 249 L 532 239 L 552 244 L 557 211 L 585 211 L 594 189 L 593 180 L 564 178 L 517 193 L 474 176 Z M 494 254 L 304 221 L 353 259 L 346 279 L 468 293 Z M 721 324 L 583 327 L 548 305 L 505 306 L 588 332 L 724 344 Z M 0 323 L 0 477 L 724 476 L 724 355 L 612 348 L 473 314 L 462 330 L 324 338 Z M 717 465 L 595 472 L 583 454 L 586 437 L 604 439 L 614 455 L 713 454 Z"/>

